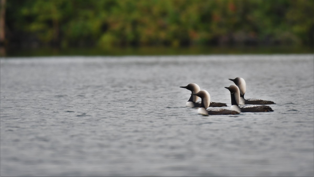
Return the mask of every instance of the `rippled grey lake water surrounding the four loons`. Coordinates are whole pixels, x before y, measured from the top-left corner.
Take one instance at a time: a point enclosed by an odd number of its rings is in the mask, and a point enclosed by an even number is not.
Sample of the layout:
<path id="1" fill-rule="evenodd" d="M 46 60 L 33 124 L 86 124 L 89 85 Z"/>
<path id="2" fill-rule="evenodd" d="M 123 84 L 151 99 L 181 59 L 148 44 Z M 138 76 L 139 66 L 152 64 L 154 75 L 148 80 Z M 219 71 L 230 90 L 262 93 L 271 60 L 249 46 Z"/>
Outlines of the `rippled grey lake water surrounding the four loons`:
<path id="1" fill-rule="evenodd" d="M 313 176 L 313 55 L 1 59 L 1 176 Z M 274 112 L 201 116 L 179 88 Z"/>

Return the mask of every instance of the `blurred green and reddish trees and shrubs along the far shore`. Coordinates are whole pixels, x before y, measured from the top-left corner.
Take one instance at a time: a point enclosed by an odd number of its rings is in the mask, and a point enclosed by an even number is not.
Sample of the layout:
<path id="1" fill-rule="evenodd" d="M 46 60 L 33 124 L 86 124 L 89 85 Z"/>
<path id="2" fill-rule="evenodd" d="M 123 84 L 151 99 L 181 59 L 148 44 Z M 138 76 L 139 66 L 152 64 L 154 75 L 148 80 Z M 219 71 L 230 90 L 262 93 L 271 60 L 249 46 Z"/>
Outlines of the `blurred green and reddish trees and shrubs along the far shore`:
<path id="1" fill-rule="evenodd" d="M 7 0 L 8 48 L 313 46 L 313 0 Z"/>

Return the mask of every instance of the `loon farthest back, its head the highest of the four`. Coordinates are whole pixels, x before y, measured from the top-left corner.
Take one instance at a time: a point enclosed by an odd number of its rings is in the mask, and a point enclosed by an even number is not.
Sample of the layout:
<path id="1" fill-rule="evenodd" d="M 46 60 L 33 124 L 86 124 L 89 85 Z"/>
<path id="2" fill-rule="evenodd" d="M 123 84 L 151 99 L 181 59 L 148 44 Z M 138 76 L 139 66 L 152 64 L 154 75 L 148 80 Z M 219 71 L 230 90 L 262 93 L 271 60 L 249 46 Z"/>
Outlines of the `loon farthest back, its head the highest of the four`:
<path id="1" fill-rule="evenodd" d="M 239 105 L 271 105 L 275 104 L 273 101 L 267 101 L 267 100 L 260 100 L 260 99 L 244 99 L 244 94 L 246 92 L 246 83 L 245 80 L 241 77 L 237 77 L 235 79 L 229 79 L 230 81 L 233 81 L 236 86 L 240 89 L 240 102 Z"/>

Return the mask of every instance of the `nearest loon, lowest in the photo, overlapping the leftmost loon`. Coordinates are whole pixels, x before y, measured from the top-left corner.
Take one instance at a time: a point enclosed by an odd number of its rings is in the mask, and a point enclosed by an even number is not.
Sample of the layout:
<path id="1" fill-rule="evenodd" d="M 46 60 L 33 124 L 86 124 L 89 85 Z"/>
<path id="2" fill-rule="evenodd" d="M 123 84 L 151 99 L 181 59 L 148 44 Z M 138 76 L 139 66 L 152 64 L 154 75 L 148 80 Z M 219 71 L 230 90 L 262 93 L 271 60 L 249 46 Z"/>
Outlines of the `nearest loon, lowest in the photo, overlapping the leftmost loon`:
<path id="1" fill-rule="evenodd" d="M 210 108 L 206 110 L 210 103 L 210 95 L 206 90 L 201 90 L 198 93 L 192 94 L 199 96 L 202 99 L 201 106 L 198 108 L 198 114 L 202 115 L 230 115 L 230 114 L 240 114 L 239 111 L 231 111 L 228 109 L 222 108 Z"/>

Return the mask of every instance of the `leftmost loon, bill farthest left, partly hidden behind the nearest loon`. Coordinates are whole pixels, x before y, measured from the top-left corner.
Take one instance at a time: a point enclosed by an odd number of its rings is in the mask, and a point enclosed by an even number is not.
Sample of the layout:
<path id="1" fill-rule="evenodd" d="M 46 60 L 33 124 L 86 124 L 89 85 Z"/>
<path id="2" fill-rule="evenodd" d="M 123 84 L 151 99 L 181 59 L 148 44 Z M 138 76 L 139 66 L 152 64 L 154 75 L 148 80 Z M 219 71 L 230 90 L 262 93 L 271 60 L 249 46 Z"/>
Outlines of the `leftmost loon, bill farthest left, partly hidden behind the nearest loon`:
<path id="1" fill-rule="evenodd" d="M 189 83 L 187 86 L 182 86 L 181 88 L 186 88 L 188 90 L 192 91 L 192 94 L 198 93 L 201 89 L 199 88 L 198 84 L 196 83 Z M 197 101 L 198 96 L 191 95 L 190 99 L 185 104 L 186 107 L 200 107 L 201 101 Z M 210 107 L 222 107 L 227 106 L 225 103 L 216 103 L 216 102 L 210 102 Z"/>

